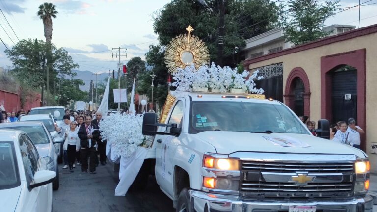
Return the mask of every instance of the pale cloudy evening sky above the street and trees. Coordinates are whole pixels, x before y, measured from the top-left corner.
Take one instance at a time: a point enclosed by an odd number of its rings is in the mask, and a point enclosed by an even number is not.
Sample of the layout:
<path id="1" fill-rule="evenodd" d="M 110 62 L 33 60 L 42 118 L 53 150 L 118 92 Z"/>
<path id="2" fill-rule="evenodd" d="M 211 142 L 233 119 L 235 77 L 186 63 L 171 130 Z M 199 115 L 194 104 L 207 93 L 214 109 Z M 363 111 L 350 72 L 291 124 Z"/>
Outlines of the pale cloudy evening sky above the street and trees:
<path id="1" fill-rule="evenodd" d="M 42 20 L 36 15 L 38 6 L 46 0 L 0 0 L 0 37 L 11 48 L 18 39 L 45 40 Z M 285 2 L 282 0 L 281 2 Z M 324 0 L 319 0 L 324 2 Z M 94 73 L 117 69 L 118 58 L 112 57 L 117 50 L 127 48 L 121 54 L 123 63 L 134 57 L 145 58 L 150 44 L 157 44 L 153 32 L 153 14 L 170 0 L 49 0 L 56 5 L 57 18 L 53 19 L 52 42 L 63 47 L 80 65 L 78 70 Z M 377 24 L 377 0 L 361 0 L 360 27 Z M 364 3 L 364 4 L 363 4 Z M 342 0 L 340 7 L 348 9 L 359 4 L 359 0 Z M 344 24 L 358 27 L 359 7 L 350 8 L 330 17 L 325 25 Z M 194 27 L 194 26 L 193 26 Z M 7 34 L 9 35 L 7 35 Z M 17 39 L 17 37 L 18 39 Z M 9 38 L 10 37 L 10 38 Z M 13 40 L 13 42 L 11 41 Z M 0 43 L 0 67 L 12 63 L 3 53 Z"/>

